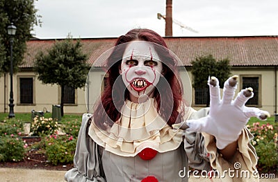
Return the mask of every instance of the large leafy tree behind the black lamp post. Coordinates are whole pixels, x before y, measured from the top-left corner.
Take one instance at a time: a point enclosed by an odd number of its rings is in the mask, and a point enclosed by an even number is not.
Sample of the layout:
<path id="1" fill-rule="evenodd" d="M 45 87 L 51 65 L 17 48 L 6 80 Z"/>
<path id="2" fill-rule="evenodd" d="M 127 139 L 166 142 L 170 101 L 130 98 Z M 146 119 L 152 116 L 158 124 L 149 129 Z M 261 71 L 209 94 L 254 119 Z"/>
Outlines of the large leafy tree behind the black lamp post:
<path id="1" fill-rule="evenodd" d="M 0 76 L 10 71 L 10 37 L 7 28 L 10 24 L 17 27 L 13 37 L 13 69 L 17 72 L 23 63 L 26 41 L 32 37 L 33 26 L 40 24 L 36 15 L 35 0 L 0 0 Z"/>

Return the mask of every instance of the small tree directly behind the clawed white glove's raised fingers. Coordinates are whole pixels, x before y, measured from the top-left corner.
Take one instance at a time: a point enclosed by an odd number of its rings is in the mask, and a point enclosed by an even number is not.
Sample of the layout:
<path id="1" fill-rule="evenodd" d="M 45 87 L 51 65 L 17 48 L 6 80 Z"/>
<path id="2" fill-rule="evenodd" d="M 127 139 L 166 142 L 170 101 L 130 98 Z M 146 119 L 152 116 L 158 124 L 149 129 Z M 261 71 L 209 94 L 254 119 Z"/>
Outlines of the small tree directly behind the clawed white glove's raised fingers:
<path id="1" fill-rule="evenodd" d="M 224 81 L 231 75 L 229 59 L 216 61 L 213 55 L 197 57 L 192 64 L 193 87 L 195 89 L 206 89 L 206 107 L 209 105 L 208 77 L 215 76 L 219 80 L 220 88 L 223 88 Z"/>

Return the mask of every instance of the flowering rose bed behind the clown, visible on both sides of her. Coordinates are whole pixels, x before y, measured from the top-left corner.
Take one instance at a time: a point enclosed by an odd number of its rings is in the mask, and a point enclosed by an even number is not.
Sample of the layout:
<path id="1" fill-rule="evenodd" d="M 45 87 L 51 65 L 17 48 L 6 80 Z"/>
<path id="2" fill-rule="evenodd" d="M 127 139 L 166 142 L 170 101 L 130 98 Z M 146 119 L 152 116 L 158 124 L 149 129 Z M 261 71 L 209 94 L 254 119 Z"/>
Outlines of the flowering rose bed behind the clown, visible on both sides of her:
<path id="1" fill-rule="evenodd" d="M 36 118 L 31 122 L 31 137 L 24 132 L 25 123 L 0 117 L 0 167 L 72 169 L 81 116 L 64 117 L 59 125 L 50 118 Z M 259 172 L 277 174 L 278 123 L 273 117 L 266 121 L 251 118 L 247 128 L 254 135 L 251 143 L 259 156 Z"/>

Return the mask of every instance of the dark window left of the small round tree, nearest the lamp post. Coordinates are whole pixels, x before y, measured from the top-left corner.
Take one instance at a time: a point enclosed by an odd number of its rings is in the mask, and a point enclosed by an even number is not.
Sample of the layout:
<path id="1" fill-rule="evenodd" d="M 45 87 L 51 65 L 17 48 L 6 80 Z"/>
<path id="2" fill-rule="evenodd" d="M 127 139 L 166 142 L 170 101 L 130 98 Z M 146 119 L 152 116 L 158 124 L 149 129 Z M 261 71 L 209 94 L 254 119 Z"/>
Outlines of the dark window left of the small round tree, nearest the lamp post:
<path id="1" fill-rule="evenodd" d="M 19 78 L 20 104 L 33 104 L 33 78 Z"/>

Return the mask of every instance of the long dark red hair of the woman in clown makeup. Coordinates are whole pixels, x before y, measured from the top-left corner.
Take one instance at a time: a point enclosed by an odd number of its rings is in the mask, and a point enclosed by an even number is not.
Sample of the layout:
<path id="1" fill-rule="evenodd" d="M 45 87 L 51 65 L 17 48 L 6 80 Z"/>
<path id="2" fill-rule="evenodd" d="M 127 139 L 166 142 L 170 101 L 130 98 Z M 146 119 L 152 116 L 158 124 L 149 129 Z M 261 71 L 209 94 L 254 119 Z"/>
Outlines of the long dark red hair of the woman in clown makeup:
<path id="1" fill-rule="evenodd" d="M 156 48 L 158 56 L 163 63 L 163 75 L 165 79 L 160 79 L 156 85 L 154 98 L 158 104 L 158 113 L 163 119 L 167 120 L 168 125 L 172 126 L 175 122 L 181 122 L 183 91 L 181 89 L 181 82 L 179 82 L 179 73 L 177 73 L 177 60 L 170 55 L 163 37 L 158 35 L 158 33 L 149 29 L 136 28 L 117 39 L 113 53 L 111 53 L 111 56 L 108 57 L 106 62 L 108 68 L 108 78 L 106 78 L 107 87 L 104 88 L 93 115 L 95 124 L 101 129 L 106 129 L 106 126 L 112 126 L 120 118 L 120 109 L 124 104 L 124 100 L 129 98 L 129 92 L 124 82 L 122 82 L 122 79 L 117 78 L 120 76 L 119 68 L 126 47 L 124 43 L 134 40 L 153 42 L 164 47 L 163 50 L 161 50 L 161 46 Z M 123 46 L 119 46 L 120 44 Z M 116 87 L 113 87 L 114 84 Z M 117 97 L 112 97 L 114 94 Z M 171 105 L 169 103 L 173 104 Z"/>

